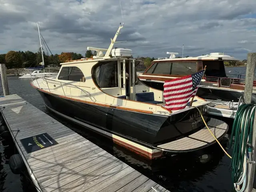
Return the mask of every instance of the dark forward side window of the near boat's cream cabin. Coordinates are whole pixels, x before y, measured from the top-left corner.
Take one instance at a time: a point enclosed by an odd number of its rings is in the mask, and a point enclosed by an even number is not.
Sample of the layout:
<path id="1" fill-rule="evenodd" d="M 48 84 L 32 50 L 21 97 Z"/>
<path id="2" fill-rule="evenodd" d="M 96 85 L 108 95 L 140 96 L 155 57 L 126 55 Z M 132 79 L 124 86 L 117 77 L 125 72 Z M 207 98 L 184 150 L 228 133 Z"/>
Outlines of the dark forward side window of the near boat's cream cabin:
<path id="1" fill-rule="evenodd" d="M 58 76 L 59 80 L 77 81 L 83 79 L 84 74 L 78 67 L 63 67 Z"/>

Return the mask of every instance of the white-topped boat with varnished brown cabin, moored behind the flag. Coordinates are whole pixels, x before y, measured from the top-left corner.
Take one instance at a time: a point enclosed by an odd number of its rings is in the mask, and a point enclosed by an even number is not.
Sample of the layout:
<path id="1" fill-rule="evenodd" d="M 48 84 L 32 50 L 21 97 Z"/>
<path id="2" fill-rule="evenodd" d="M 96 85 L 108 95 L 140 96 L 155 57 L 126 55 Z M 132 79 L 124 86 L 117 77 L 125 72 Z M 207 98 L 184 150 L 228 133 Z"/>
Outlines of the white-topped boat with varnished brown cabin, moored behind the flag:
<path id="1" fill-rule="evenodd" d="M 238 102 L 244 95 L 245 80 L 241 78 L 241 74 L 230 78 L 224 67 L 224 61 L 236 61 L 237 58 L 223 53 L 188 58 L 176 58 L 175 54 L 178 53 L 173 52 L 167 54 L 171 54 L 170 58 L 154 60 L 143 74 L 138 74 L 138 78 L 144 84 L 163 90 L 166 80 L 193 74 L 207 66 L 197 96 L 207 100 Z M 254 81 L 252 103 L 256 104 L 256 81 Z"/>

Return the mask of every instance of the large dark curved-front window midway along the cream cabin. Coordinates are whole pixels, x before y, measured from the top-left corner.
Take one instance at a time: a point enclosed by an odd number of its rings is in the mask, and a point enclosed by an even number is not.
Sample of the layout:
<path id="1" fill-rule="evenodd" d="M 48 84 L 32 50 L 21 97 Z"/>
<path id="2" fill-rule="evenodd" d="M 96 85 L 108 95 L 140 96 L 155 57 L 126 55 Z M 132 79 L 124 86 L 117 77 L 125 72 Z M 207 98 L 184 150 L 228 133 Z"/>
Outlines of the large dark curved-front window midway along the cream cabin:
<path id="1" fill-rule="evenodd" d="M 93 68 L 93 77 L 100 88 L 118 87 L 117 61 L 99 62 Z"/>

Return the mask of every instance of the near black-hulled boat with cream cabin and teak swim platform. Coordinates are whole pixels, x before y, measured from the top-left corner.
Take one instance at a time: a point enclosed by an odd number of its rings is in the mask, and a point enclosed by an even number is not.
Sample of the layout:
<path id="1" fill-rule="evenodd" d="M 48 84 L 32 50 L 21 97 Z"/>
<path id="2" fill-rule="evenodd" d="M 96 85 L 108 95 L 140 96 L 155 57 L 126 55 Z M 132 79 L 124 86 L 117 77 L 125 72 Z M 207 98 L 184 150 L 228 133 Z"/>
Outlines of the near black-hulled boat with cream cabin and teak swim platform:
<path id="1" fill-rule="evenodd" d="M 46 106 L 150 159 L 214 144 L 195 108 L 205 114 L 208 102 L 196 96 L 192 106 L 168 111 L 163 91 L 137 78 L 136 65 L 141 61 L 131 58 L 131 50 L 112 49 L 122 27 L 108 49 L 87 48 L 97 52 L 93 58 L 62 63 L 56 78 L 32 80 Z M 226 123 L 204 118 L 218 140 L 224 137 Z"/>

